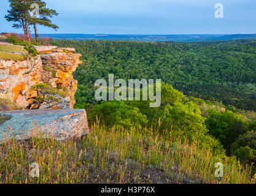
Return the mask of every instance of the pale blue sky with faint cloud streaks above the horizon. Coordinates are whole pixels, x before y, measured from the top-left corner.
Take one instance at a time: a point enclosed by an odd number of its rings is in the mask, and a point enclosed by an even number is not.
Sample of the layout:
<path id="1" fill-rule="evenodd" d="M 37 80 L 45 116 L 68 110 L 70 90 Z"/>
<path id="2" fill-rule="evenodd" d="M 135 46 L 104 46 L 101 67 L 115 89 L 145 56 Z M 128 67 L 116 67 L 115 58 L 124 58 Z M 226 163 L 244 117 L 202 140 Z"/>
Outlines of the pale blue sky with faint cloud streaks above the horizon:
<path id="1" fill-rule="evenodd" d="M 60 13 L 53 23 L 60 29 L 40 33 L 80 34 L 248 34 L 256 33 L 255 0 L 45 0 Z M 222 3 L 224 18 L 215 18 L 214 5 Z M 13 29 L 0 1 L 0 32 Z"/>

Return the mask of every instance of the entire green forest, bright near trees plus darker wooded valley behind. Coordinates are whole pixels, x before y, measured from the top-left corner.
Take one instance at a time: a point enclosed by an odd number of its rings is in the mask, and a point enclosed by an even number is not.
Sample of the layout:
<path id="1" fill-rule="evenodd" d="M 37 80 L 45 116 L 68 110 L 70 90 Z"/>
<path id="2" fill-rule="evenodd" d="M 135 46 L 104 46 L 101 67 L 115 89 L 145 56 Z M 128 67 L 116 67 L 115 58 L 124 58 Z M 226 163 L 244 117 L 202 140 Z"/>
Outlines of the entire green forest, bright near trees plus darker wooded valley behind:
<path id="1" fill-rule="evenodd" d="M 174 43 L 52 40 L 74 47 L 83 64 L 75 108 L 88 111 L 90 123 L 107 129 L 169 132 L 183 143 L 198 143 L 212 153 L 256 161 L 256 40 Z M 161 106 L 147 101 L 97 102 L 95 81 L 161 79 Z"/>

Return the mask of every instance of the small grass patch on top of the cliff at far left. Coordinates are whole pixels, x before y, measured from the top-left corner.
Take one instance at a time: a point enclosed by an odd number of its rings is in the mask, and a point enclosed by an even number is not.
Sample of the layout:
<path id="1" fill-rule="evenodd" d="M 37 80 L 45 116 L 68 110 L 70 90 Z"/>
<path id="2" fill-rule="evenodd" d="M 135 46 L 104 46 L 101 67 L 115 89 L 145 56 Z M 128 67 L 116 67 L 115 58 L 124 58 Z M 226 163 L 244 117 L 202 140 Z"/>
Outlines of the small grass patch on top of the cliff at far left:
<path id="1" fill-rule="evenodd" d="M 25 55 L 20 53 L 24 53 Z M 0 59 L 23 61 L 27 58 L 27 54 L 27 51 L 23 48 L 15 47 L 12 45 L 0 45 Z"/>

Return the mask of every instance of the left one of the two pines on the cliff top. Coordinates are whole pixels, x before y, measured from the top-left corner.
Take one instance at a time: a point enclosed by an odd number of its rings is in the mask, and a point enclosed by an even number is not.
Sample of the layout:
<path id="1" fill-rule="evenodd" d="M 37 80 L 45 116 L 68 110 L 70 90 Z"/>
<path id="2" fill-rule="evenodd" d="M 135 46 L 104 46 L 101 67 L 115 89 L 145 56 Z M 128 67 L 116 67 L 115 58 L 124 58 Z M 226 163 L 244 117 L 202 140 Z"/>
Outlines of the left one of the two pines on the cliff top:
<path id="1" fill-rule="evenodd" d="M 12 25 L 15 29 L 23 28 L 25 39 L 29 41 L 29 4 L 28 1 L 9 0 L 10 10 L 7 10 L 8 15 L 5 15 L 7 21 L 14 22 Z"/>

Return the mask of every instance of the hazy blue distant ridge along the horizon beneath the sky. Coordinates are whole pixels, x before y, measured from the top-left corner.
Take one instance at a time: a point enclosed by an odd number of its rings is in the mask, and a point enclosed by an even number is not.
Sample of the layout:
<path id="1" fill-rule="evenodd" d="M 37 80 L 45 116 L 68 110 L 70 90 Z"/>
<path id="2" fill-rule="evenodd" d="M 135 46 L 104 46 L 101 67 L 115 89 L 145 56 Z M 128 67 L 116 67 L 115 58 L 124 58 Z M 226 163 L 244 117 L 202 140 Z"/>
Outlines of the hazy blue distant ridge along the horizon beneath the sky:
<path id="1" fill-rule="evenodd" d="M 256 34 L 192 34 L 192 35 L 114 35 L 114 34 L 41 34 L 43 37 L 67 40 L 130 40 L 149 42 L 204 42 L 215 40 L 256 39 Z"/>

